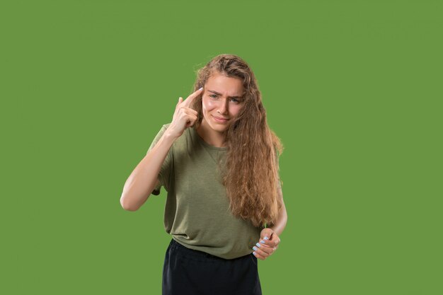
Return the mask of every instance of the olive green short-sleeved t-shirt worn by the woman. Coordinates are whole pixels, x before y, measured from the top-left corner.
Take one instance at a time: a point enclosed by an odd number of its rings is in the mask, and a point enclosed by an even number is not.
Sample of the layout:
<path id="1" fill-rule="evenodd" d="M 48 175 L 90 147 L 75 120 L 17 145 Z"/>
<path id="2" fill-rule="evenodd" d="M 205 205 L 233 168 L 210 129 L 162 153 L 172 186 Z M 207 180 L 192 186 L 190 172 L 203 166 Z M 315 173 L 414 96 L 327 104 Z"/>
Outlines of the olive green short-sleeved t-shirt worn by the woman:
<path id="1" fill-rule="evenodd" d="M 161 127 L 149 150 L 168 126 Z M 160 185 L 152 194 L 159 195 L 161 186 L 168 192 L 164 226 L 174 240 L 187 248 L 233 259 L 253 252 L 263 227 L 231 214 L 217 166 L 225 156 L 226 148 L 207 144 L 194 127 L 185 129 L 169 149 L 159 172 Z"/>

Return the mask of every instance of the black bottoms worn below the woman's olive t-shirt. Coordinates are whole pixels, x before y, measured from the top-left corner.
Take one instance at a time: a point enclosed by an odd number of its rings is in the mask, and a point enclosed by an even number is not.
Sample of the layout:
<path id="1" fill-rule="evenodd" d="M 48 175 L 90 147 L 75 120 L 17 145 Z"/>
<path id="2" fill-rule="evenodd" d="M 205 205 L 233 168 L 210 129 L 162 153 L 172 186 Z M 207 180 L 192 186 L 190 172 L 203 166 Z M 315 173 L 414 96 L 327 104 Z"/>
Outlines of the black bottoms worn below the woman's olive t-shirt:
<path id="1" fill-rule="evenodd" d="M 261 295 L 257 258 L 251 253 L 223 259 L 172 239 L 163 265 L 162 294 Z"/>

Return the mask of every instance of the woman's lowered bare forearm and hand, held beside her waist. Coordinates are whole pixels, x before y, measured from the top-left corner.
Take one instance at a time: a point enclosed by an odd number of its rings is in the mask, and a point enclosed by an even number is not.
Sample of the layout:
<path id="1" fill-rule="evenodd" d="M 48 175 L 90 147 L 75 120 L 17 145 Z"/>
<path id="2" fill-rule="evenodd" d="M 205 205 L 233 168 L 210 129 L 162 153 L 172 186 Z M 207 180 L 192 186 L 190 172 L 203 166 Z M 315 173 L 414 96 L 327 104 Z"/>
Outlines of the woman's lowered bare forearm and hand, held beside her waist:
<path id="1" fill-rule="evenodd" d="M 260 241 L 253 247 L 253 254 L 256 258 L 265 260 L 272 255 L 280 244 L 280 235 L 287 223 L 287 212 L 284 206 L 282 189 L 279 188 L 279 195 L 282 199 L 282 207 L 278 215 L 277 221 L 272 226 L 263 229 L 260 233 Z"/>

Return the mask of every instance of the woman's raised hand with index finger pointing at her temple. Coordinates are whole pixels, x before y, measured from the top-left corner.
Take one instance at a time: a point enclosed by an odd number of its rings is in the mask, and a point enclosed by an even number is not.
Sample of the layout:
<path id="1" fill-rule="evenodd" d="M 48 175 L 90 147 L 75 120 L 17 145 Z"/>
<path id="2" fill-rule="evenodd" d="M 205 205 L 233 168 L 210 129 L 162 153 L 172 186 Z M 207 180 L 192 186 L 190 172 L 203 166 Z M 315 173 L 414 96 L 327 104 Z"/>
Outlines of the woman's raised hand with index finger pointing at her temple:
<path id="1" fill-rule="evenodd" d="M 192 101 L 202 93 L 202 89 L 203 87 L 191 93 L 185 100 L 181 97 L 178 98 L 176 110 L 167 131 L 173 138 L 180 137 L 186 128 L 194 125 L 195 121 L 197 121 L 197 111 L 192 110 L 190 105 Z"/>

